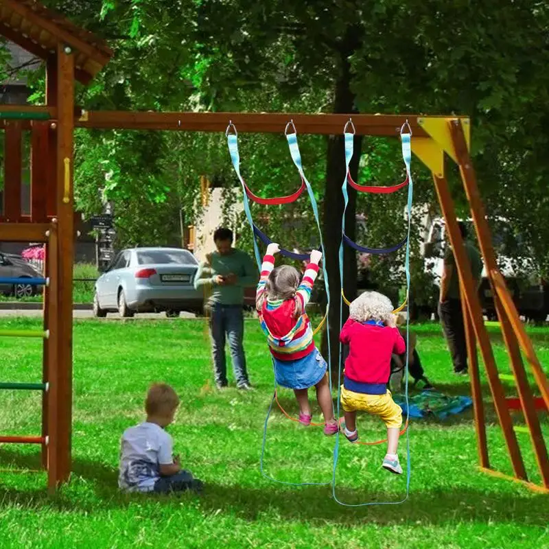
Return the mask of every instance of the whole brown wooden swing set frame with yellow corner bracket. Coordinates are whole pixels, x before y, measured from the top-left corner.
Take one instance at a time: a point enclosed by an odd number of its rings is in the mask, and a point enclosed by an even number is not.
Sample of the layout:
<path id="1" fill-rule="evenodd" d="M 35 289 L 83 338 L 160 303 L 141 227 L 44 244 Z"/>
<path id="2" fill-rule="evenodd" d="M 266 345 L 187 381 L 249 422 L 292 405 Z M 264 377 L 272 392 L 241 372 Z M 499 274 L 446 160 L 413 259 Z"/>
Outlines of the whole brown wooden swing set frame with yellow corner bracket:
<path id="1" fill-rule="evenodd" d="M 45 289 L 44 329 L 49 330 L 49 338 L 44 340 L 43 382 L 47 382 L 49 390 L 43 399 L 43 436 L 40 437 L 40 443 L 43 448 L 43 467 L 48 471 L 48 488 L 49 491 L 55 491 L 60 484 L 69 480 L 71 474 L 74 129 L 224 132 L 229 121 L 233 121 L 239 132 L 280 133 L 292 119 L 301 134 L 341 135 L 350 115 L 86 112 L 74 104 L 75 80 L 89 83 L 112 56 L 112 51 L 100 38 L 75 27 L 36 0 L 0 0 L 0 34 L 45 60 L 47 67 L 45 106 L 0 106 L 0 130 L 5 132 L 5 186 L 0 241 L 45 242 L 47 246 L 46 276 L 50 284 Z M 467 335 L 480 468 L 489 474 L 518 480 L 531 489 L 549 493 L 548 453 L 521 350 L 530 364 L 535 383 L 548 409 L 549 384 L 496 264 L 487 216 L 469 155 L 469 119 L 454 116 L 357 114 L 353 114 L 352 119 L 357 135 L 385 137 L 398 137 L 401 126 L 408 121 L 413 136 L 412 152 L 432 172 L 449 241 L 454 250 L 465 303 L 463 322 Z M 21 148 L 23 132 L 27 130 L 30 130 L 32 143 L 32 198 L 30 215 L 23 215 Z M 537 459 L 541 486 L 528 482 L 516 428 L 513 427 L 489 334 L 484 326 L 477 288 L 474 286 L 445 177 L 445 155 L 458 165 L 469 200 L 526 428 Z M 500 474 L 490 467 L 477 344 L 511 458 L 513 476 Z"/>

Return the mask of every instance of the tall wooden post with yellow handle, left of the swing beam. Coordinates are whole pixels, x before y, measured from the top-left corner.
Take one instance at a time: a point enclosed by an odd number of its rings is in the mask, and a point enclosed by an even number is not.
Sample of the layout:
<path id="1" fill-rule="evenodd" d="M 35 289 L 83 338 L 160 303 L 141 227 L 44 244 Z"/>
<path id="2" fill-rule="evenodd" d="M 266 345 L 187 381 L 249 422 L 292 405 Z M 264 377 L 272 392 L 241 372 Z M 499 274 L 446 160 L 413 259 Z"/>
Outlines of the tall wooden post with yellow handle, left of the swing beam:
<path id="1" fill-rule="evenodd" d="M 69 47 L 57 48 L 57 217 L 58 217 L 58 477 L 71 474 L 73 349 L 73 128 L 74 58 Z"/>

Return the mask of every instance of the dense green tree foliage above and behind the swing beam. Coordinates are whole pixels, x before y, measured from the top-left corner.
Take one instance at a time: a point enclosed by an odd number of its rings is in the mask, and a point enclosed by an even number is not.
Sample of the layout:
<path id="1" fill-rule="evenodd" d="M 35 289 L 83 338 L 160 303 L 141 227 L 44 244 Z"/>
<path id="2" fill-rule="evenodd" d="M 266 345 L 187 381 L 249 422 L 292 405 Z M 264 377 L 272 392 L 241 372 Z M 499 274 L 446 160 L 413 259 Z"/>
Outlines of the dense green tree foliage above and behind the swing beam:
<path id="1" fill-rule="evenodd" d="M 89 109 L 242 110 L 333 112 L 354 104 L 361 112 L 459 113 L 473 120 L 472 150 L 491 217 L 504 215 L 530 250 L 541 274 L 549 272 L 545 181 L 549 162 L 544 128 L 549 119 L 548 8 L 519 0 L 501 5 L 434 0 L 290 2 L 250 0 L 71 0 L 48 2 L 76 23 L 106 36 L 115 58 L 78 102 Z M 535 105 L 535 108 L 533 108 Z M 348 111 L 348 107 L 344 107 Z M 299 128 L 298 128 L 299 129 Z M 295 189 L 283 139 L 244 136 L 242 159 L 250 186 L 261 196 Z M 249 147 L 246 148 L 246 143 Z M 305 139 L 301 138 L 303 148 Z M 340 181 L 326 180 L 325 139 L 303 153 L 318 198 Z M 154 237 L 165 242 L 166 215 L 197 218 L 198 176 L 213 174 L 233 187 L 224 139 L 186 138 L 170 132 L 89 132 L 78 137 L 78 205 L 97 212 L 97 190 L 113 200 L 121 241 Z M 366 139 L 361 180 L 388 184 L 401 173 L 396 143 Z M 182 169 L 174 170 L 174 164 Z M 290 173 L 292 175 L 290 175 Z M 174 174 L 178 174 L 174 176 Z M 416 175 L 415 202 L 434 203 L 429 174 Z M 105 176 L 109 179 L 106 180 Z M 463 190 L 449 170 L 458 214 L 466 214 Z M 138 202 L 150 207 L 128 207 Z M 307 231 L 285 218 L 309 215 L 306 199 L 269 208 L 264 228 L 285 237 L 287 247 L 309 245 Z M 368 244 L 391 244 L 402 235 L 402 194 L 359 197 L 368 215 Z M 154 207 L 153 207 L 154 206 Z M 156 208 L 156 210 L 154 210 Z M 139 219 L 140 211 L 147 220 Z M 156 214 L 154 214 L 156 211 Z M 267 213 L 255 207 L 254 214 Z M 131 217 L 131 219 L 129 219 Z M 126 219 L 128 218 L 128 219 Z M 136 219 L 137 218 L 137 219 Z M 310 218 L 309 218 L 310 219 Z M 539 220 L 532 223 L 531 220 Z M 170 226 L 167 223 L 166 226 Z M 126 232 L 129 231 L 129 232 Z M 248 231 L 245 231 L 248 235 Z M 417 250 L 415 231 L 413 249 Z M 337 238 L 334 232 L 334 238 Z M 375 260 L 377 261 L 377 259 Z M 393 264 L 385 261 L 384 265 Z M 397 266 L 402 255 L 396 258 Z M 390 276 L 397 276 L 394 270 Z"/>

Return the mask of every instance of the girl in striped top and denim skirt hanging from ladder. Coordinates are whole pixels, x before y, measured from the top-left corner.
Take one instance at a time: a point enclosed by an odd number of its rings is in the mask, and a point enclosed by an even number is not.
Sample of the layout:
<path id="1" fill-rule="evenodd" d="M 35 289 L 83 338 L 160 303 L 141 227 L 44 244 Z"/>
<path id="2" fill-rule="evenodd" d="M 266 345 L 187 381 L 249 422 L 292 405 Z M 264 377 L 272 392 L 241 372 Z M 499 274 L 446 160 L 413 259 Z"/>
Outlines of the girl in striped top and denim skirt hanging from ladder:
<path id="1" fill-rule="evenodd" d="M 302 425 L 311 424 L 308 390 L 314 386 L 325 419 L 324 434 L 336 434 L 338 423 L 334 419 L 327 364 L 316 349 L 311 323 L 305 313 L 322 253 L 316 250 L 311 253 L 301 279 L 299 271 L 293 267 L 274 268 L 274 255 L 278 252 L 278 244 L 269 244 L 255 301 L 261 328 L 267 334 L 274 377 L 277 384 L 294 390 Z"/>

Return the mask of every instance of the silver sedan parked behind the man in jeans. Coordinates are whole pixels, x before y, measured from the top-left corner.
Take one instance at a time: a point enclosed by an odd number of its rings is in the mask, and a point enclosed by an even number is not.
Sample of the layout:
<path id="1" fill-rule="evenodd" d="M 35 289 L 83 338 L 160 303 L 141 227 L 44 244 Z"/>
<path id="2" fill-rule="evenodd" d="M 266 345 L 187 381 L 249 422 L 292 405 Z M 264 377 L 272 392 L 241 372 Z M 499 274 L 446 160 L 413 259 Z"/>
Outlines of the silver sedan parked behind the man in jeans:
<path id="1" fill-rule="evenodd" d="M 118 311 L 122 317 L 140 312 L 200 312 L 203 294 L 194 289 L 198 261 L 181 248 L 132 248 L 119 252 L 95 282 L 93 313 Z"/>

